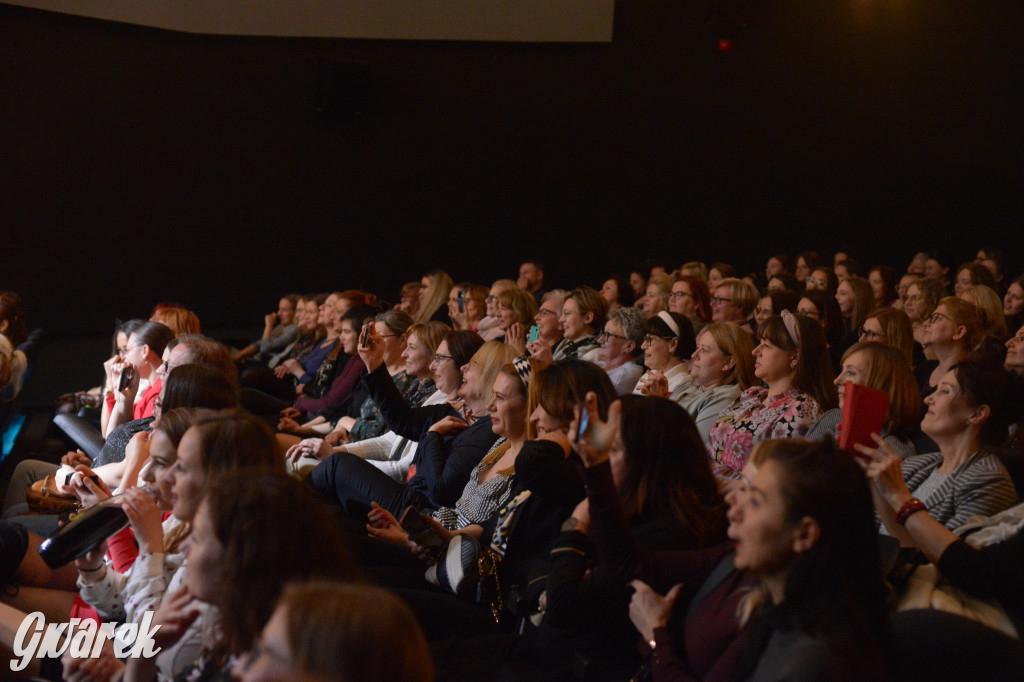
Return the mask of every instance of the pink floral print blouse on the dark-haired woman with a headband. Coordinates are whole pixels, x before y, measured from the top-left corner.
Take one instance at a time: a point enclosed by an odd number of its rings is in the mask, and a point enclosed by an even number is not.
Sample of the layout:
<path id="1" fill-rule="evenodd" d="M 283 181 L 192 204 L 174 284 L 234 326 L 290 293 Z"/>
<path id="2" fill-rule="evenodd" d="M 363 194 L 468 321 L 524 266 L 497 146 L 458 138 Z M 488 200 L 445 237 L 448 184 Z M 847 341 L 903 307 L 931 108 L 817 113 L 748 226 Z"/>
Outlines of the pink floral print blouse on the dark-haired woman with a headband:
<path id="1" fill-rule="evenodd" d="M 797 389 L 774 395 L 765 402 L 767 395 L 767 388 L 748 388 L 711 427 L 708 454 L 719 479 L 739 478 L 757 443 L 804 436 L 821 416 L 817 400 Z"/>

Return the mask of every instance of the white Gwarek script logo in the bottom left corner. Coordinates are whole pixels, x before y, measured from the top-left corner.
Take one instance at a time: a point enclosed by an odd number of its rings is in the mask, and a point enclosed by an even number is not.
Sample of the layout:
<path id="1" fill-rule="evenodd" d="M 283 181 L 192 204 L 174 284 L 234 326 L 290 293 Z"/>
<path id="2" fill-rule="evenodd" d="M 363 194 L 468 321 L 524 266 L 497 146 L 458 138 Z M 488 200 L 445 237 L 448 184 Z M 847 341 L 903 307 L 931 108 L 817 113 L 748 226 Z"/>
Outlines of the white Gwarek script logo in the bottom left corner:
<path id="1" fill-rule="evenodd" d="M 25 670 L 33 657 L 58 658 L 65 651 L 74 658 L 96 658 L 108 640 L 114 642 L 118 658 L 150 658 L 160 653 L 159 646 L 154 648 L 153 636 L 162 627 L 153 628 L 152 624 L 153 612 L 147 611 L 141 624 L 122 626 L 115 639 L 113 623 L 97 626 L 95 621 L 72 619 L 71 623 L 46 625 L 42 612 L 29 613 L 14 637 L 14 655 L 20 660 L 12 659 L 10 669 L 16 673 Z"/>

